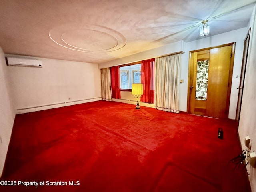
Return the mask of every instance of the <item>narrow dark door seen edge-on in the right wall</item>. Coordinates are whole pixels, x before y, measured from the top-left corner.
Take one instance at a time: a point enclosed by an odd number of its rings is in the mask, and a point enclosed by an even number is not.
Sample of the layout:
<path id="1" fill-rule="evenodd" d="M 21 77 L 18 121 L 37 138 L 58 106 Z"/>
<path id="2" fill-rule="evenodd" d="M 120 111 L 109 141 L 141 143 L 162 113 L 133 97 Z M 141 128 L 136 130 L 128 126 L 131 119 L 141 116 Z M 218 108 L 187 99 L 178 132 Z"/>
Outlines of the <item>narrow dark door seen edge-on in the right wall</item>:
<path id="1" fill-rule="evenodd" d="M 247 56 L 248 56 L 248 49 L 249 49 L 249 42 L 250 42 L 250 32 L 251 28 L 249 29 L 245 39 L 244 39 L 244 54 L 242 60 L 242 68 L 241 68 L 241 76 L 240 76 L 240 84 L 237 87 L 238 91 L 238 101 L 237 101 L 237 108 L 236 108 L 236 120 L 239 124 L 240 119 L 240 111 L 241 111 L 241 104 L 242 104 L 242 97 L 243 97 L 243 88 L 244 88 L 244 77 L 246 72 L 246 64 L 247 64 Z"/>

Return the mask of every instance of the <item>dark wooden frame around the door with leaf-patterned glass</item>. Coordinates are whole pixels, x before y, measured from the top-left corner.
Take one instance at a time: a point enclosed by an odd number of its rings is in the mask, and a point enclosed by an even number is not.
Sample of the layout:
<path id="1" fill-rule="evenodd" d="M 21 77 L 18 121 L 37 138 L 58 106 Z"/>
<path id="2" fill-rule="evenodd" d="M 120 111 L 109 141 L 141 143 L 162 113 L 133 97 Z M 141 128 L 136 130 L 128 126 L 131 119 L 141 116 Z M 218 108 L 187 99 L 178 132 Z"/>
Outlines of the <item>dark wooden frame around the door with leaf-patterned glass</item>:
<path id="1" fill-rule="evenodd" d="M 231 86 L 232 86 L 232 76 L 233 76 L 233 67 L 234 67 L 234 55 L 235 55 L 235 47 L 236 47 L 236 42 L 228 43 L 228 44 L 222 44 L 214 47 L 208 47 L 208 48 L 203 48 L 203 49 L 198 49 L 198 50 L 193 50 L 189 52 L 189 59 L 188 59 L 188 95 L 187 95 L 187 113 L 190 113 L 190 86 L 192 86 L 192 82 L 190 81 L 190 70 L 191 70 L 191 53 L 194 52 L 199 52 L 199 51 L 204 51 L 204 50 L 210 50 L 214 48 L 220 48 L 220 47 L 225 47 L 225 46 L 232 46 L 231 48 L 231 58 L 230 58 L 230 70 L 229 70 L 229 76 L 228 76 L 228 93 L 227 93 L 227 101 L 226 101 L 226 116 L 225 118 L 228 118 L 229 114 L 229 106 L 230 106 L 230 95 L 231 95 Z"/>

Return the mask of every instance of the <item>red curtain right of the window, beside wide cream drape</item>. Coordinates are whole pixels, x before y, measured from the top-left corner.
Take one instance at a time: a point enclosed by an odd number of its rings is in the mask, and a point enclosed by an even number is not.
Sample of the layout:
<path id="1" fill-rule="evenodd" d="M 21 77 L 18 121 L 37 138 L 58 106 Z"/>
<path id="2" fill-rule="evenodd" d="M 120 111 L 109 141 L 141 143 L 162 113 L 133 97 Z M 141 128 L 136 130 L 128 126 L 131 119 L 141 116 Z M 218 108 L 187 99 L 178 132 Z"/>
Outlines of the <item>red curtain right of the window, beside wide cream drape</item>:
<path id="1" fill-rule="evenodd" d="M 143 84 L 142 102 L 154 103 L 154 63 L 155 59 L 141 61 L 141 83 Z"/>

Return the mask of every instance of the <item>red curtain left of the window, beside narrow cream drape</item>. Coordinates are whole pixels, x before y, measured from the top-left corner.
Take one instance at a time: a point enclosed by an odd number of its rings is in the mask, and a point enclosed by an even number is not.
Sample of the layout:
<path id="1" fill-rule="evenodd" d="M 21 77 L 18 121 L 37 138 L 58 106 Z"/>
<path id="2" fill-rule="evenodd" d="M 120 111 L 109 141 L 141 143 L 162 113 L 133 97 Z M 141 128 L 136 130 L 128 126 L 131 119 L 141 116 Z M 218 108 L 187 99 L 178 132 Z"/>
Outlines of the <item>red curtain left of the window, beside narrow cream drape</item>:
<path id="1" fill-rule="evenodd" d="M 119 66 L 110 67 L 112 98 L 120 99 Z"/>

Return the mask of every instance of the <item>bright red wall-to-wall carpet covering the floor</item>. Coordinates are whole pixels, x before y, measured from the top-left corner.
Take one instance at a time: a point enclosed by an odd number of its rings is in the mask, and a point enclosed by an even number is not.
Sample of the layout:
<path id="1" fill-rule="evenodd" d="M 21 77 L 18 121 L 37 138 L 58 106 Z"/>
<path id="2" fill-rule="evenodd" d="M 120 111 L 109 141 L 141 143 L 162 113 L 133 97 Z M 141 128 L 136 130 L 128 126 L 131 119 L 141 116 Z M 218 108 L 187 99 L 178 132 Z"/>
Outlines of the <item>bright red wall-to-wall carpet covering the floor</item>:
<path id="1" fill-rule="evenodd" d="M 16 115 L 0 191 L 250 192 L 240 153 L 233 120 L 91 102 Z"/>

